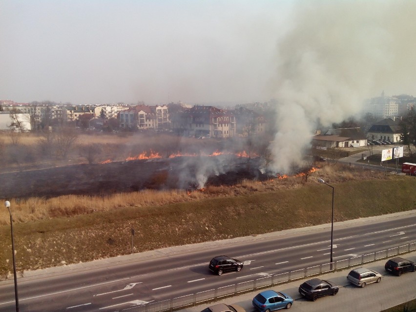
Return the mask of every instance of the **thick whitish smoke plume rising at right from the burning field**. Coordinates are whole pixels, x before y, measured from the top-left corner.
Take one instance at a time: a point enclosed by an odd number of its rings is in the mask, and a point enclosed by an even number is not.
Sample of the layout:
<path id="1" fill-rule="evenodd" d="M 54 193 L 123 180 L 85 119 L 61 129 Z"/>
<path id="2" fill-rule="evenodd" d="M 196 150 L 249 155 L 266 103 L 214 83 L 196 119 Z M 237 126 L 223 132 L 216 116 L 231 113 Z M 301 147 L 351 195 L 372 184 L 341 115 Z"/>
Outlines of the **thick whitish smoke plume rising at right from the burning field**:
<path id="1" fill-rule="evenodd" d="M 278 42 L 272 169 L 301 165 L 317 120 L 357 115 L 365 98 L 415 90 L 416 1 L 301 1 Z"/>

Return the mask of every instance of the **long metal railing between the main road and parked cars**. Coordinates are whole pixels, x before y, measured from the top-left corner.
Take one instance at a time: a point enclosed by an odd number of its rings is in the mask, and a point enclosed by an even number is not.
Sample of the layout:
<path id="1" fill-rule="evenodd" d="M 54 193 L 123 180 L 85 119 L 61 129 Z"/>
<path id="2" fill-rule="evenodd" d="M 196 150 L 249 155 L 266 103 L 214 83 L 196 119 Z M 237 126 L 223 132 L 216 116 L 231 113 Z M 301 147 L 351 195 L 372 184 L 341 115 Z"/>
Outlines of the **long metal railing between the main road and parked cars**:
<path id="1" fill-rule="evenodd" d="M 282 283 L 288 283 L 296 279 L 306 278 L 312 275 L 319 275 L 330 271 L 344 270 L 355 267 L 364 263 L 374 262 L 380 259 L 386 259 L 401 253 L 416 250 L 416 243 L 402 245 L 388 250 L 381 250 L 373 253 L 364 254 L 349 259 L 337 260 L 332 263 L 321 264 L 319 266 L 309 267 L 300 270 L 293 270 L 285 273 L 270 274 L 269 276 L 241 282 L 229 286 L 201 291 L 195 294 L 188 294 L 182 297 L 168 299 L 160 302 L 152 302 L 146 305 L 131 307 L 123 311 L 128 312 L 165 312 L 185 309 L 189 306 L 216 301 L 227 296 L 235 296 L 243 292 L 255 291 L 257 289 L 270 287 Z"/>

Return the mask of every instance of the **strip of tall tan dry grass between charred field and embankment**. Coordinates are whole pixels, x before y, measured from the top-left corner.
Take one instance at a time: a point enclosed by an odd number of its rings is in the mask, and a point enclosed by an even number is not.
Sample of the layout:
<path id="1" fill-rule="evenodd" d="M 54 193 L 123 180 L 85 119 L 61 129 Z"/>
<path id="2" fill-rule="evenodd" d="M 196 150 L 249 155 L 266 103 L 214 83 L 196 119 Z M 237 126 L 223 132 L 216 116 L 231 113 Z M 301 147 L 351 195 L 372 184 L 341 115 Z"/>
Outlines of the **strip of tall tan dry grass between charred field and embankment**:
<path id="1" fill-rule="evenodd" d="M 290 176 L 285 179 L 270 179 L 268 181 L 243 180 L 239 185 L 208 186 L 204 190 L 187 192 L 185 190 L 144 190 L 139 192 L 118 193 L 109 196 L 84 196 L 65 195 L 54 198 L 28 198 L 9 199 L 13 208 L 15 222 L 31 222 L 47 220 L 60 217 L 72 217 L 76 215 L 89 214 L 118 210 L 129 207 L 153 207 L 173 203 L 192 202 L 212 197 L 242 196 L 253 192 L 265 193 L 281 189 L 299 188 L 305 185 L 314 185 L 318 182 L 317 177 L 323 178 L 329 184 L 338 184 L 348 181 L 359 180 L 384 180 L 388 177 L 380 172 L 370 172 L 355 169 L 350 166 L 325 165 L 320 167 L 308 181 L 304 177 Z M 0 210 L 0 225 L 9 224 L 9 215 L 5 209 Z"/>

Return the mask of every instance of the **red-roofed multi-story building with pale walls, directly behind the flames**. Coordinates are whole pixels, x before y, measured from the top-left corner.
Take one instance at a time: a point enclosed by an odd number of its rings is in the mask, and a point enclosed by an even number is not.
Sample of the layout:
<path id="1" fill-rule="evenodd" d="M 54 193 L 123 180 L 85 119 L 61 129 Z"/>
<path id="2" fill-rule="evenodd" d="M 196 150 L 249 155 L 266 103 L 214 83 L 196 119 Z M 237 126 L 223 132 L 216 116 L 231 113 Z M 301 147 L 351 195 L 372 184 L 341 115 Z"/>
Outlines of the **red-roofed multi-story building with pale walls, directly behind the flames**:
<path id="1" fill-rule="evenodd" d="M 193 106 L 175 118 L 176 133 L 195 137 L 229 138 L 235 136 L 235 116 L 214 106 Z"/>

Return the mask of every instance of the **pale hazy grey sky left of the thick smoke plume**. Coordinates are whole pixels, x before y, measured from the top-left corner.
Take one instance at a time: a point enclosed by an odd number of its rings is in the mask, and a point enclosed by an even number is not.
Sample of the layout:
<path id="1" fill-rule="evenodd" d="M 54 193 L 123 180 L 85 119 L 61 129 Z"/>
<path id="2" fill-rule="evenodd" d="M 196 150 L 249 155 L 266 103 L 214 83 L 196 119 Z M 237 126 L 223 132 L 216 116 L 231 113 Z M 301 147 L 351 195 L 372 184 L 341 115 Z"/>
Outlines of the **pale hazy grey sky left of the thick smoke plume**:
<path id="1" fill-rule="evenodd" d="M 293 1 L 0 0 L 0 100 L 268 101 Z"/>

